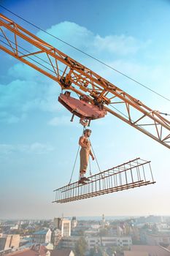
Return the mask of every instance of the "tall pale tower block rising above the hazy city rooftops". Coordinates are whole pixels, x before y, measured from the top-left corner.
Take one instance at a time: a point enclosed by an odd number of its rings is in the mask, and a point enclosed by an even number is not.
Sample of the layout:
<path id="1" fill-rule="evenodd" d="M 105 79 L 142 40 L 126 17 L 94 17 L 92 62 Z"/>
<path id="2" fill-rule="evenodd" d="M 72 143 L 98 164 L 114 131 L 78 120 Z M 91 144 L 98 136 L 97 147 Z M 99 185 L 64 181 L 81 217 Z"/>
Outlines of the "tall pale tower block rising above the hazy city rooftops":
<path id="1" fill-rule="evenodd" d="M 64 218 L 55 218 L 54 225 L 57 229 L 61 230 L 61 236 L 71 235 L 71 220 Z"/>

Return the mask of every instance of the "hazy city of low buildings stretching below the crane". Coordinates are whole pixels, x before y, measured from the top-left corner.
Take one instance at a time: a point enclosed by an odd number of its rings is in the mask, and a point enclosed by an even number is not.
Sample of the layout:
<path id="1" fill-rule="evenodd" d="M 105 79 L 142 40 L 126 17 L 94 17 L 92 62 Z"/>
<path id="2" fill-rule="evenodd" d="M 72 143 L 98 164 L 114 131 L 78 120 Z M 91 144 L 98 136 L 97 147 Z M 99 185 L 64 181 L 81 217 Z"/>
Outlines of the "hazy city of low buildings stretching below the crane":
<path id="1" fill-rule="evenodd" d="M 170 255 L 170 217 L 0 222 L 1 255 Z M 147 253 L 148 252 L 148 253 Z M 70 255 L 70 256 L 71 256 Z"/>

